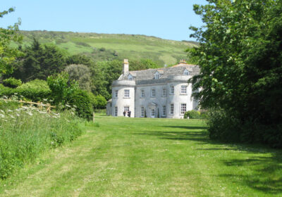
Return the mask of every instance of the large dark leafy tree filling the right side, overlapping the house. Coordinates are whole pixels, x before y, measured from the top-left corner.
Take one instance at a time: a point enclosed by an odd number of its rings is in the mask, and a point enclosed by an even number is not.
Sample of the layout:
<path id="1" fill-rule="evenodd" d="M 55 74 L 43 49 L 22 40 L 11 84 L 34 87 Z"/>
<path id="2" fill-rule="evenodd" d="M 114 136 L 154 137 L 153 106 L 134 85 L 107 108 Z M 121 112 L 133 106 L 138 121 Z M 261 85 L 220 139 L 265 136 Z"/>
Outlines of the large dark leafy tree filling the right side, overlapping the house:
<path id="1" fill-rule="evenodd" d="M 200 106 L 223 113 L 210 136 L 282 146 L 282 1 L 208 2 L 194 6 L 205 25 L 191 27 L 200 46 L 188 51 L 200 65 L 190 80 Z"/>

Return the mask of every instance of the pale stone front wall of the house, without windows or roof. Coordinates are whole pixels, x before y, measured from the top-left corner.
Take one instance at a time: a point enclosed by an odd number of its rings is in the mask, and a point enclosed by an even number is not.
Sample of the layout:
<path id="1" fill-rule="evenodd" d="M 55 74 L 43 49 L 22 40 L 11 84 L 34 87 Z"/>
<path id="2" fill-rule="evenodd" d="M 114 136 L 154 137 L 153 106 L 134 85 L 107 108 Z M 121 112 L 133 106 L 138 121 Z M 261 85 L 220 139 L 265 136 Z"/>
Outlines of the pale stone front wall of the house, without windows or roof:
<path id="1" fill-rule="evenodd" d="M 170 76 L 166 82 L 152 84 L 152 80 L 135 84 L 135 81 L 117 80 L 112 85 L 113 97 L 111 115 L 115 113 L 115 107 L 118 107 L 118 116 L 123 116 L 123 107 L 129 106 L 131 117 L 141 117 L 141 107 L 146 110 L 147 117 L 151 117 L 151 109 L 155 109 L 155 117 L 183 118 L 180 114 L 181 103 L 186 103 L 186 111 L 197 107 L 197 102 L 193 101 L 192 85 L 188 84 L 190 76 Z M 174 94 L 170 93 L 171 85 L 174 86 Z M 187 94 L 181 94 L 181 85 L 187 85 Z M 166 96 L 162 96 L 162 89 L 166 88 Z M 130 90 L 130 98 L 124 98 L 124 90 Z M 152 97 L 152 89 L 156 90 L 156 96 Z M 118 90 L 118 98 L 115 98 L 115 91 Z M 145 91 L 145 97 L 141 97 L 141 90 Z M 174 105 L 173 114 L 171 111 L 171 103 Z M 163 106 L 166 106 L 166 116 L 163 115 Z"/>

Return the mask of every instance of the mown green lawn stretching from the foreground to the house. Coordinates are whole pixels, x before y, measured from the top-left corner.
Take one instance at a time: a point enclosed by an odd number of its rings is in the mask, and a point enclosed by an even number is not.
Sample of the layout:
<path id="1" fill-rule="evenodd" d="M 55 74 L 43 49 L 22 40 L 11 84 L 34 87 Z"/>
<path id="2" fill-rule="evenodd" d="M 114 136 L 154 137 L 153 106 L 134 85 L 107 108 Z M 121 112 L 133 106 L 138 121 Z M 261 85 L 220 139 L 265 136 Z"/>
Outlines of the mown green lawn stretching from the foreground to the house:
<path id="1" fill-rule="evenodd" d="M 0 196 L 282 196 L 282 151 L 209 141 L 201 120 L 96 120 Z"/>

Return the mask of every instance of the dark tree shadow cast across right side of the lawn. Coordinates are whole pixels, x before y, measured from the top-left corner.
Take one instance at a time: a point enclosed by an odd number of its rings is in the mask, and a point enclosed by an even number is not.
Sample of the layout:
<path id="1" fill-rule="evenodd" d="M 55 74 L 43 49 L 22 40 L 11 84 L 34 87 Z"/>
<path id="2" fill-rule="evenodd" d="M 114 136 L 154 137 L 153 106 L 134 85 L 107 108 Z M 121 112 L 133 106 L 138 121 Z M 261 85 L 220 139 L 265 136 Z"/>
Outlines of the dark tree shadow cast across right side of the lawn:
<path id="1" fill-rule="evenodd" d="M 226 179 L 226 181 L 234 182 L 237 186 L 247 186 L 250 189 L 265 193 L 266 195 L 282 196 L 281 150 L 268 148 L 267 146 L 263 145 L 226 144 L 220 141 L 214 141 L 209 139 L 207 130 L 201 131 L 201 129 L 207 129 L 207 127 L 163 127 L 177 128 L 179 129 L 179 132 L 145 131 L 138 134 L 157 136 L 159 139 L 164 140 L 197 141 L 197 143 L 202 145 L 211 145 L 209 148 L 197 148 L 196 151 L 204 151 L 206 153 L 207 151 L 213 151 L 214 153 L 212 154 L 221 154 L 222 151 L 231 151 L 230 153 L 233 155 L 238 154 L 238 156 L 235 155 L 235 158 L 233 156 L 233 159 L 222 158 L 222 160 L 219 160 L 219 162 L 223 163 L 223 165 L 231 167 L 231 173 L 218 174 L 217 176 Z M 199 129 L 200 131 L 193 131 L 195 129 Z M 226 145 L 228 146 L 226 147 Z M 249 155 L 246 157 L 242 154 Z M 270 154 L 270 156 L 264 157 L 263 154 Z M 238 170 L 233 172 L 232 170 L 234 170 L 234 168 Z"/>

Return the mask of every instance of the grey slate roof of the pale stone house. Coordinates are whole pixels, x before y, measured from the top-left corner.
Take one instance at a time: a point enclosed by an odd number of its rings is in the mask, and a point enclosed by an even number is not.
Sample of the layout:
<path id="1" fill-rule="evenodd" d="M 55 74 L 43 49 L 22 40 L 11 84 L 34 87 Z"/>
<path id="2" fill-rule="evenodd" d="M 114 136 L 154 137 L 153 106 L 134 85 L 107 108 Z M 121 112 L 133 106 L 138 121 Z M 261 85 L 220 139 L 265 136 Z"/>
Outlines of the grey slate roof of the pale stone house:
<path id="1" fill-rule="evenodd" d="M 184 70 L 187 69 L 190 72 L 190 75 L 198 75 L 200 73 L 200 68 L 198 65 L 190 65 L 186 63 L 179 63 L 169 68 L 157 68 L 157 69 L 147 69 L 147 70 L 135 70 L 129 71 L 127 75 L 121 75 L 118 80 L 128 80 L 128 75 L 132 75 L 134 80 L 138 84 L 142 84 L 143 80 L 154 80 L 154 73 L 159 72 L 160 77 L 158 82 L 165 82 L 168 76 L 173 75 L 183 75 Z"/>

